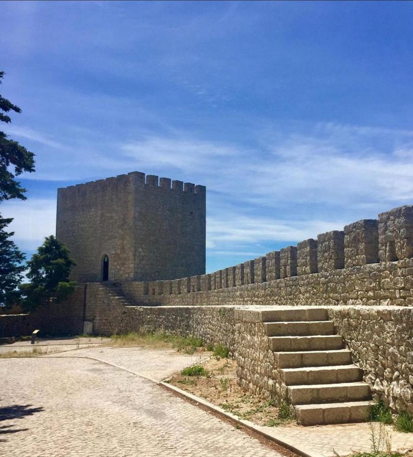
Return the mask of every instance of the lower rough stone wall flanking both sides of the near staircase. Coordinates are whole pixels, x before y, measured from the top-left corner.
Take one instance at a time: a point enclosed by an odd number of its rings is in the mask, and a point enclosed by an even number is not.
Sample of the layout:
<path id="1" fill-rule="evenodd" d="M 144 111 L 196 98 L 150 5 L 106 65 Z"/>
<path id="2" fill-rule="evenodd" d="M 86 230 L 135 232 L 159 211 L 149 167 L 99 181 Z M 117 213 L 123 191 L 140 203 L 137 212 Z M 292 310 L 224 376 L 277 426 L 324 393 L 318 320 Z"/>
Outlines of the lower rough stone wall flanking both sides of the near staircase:
<path id="1" fill-rule="evenodd" d="M 97 335 L 156 331 L 193 335 L 230 350 L 243 388 L 264 398 L 285 398 L 277 354 L 269 347 L 259 308 L 124 306 L 107 290 L 101 284 L 84 284 L 66 303 L 30 315 L 0 316 L 0 337 L 27 335 L 36 328 L 42 336 L 80 334 L 83 320 L 93 321 Z M 326 308 L 373 393 L 394 411 L 413 412 L 413 308 Z"/>

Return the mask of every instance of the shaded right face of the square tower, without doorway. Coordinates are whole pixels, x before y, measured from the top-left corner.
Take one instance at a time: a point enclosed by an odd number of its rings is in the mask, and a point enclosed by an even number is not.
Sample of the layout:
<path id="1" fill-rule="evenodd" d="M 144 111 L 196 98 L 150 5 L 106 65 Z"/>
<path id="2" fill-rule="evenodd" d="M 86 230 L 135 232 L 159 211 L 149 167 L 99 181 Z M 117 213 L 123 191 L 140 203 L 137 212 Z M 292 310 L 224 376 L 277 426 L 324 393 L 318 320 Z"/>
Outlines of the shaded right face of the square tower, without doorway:
<path id="1" fill-rule="evenodd" d="M 181 181 L 139 186 L 135 199 L 135 278 L 176 279 L 205 273 L 205 188 Z M 161 178 L 162 180 L 162 178 Z M 162 184 L 162 181 L 161 181 Z"/>

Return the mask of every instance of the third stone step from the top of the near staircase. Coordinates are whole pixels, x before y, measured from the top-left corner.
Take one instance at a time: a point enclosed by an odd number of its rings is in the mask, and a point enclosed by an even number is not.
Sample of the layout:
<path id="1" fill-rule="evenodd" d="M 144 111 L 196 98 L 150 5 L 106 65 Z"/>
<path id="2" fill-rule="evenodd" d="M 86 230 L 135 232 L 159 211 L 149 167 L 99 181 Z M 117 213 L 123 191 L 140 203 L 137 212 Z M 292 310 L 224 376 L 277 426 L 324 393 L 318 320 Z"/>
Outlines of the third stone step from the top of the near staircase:
<path id="1" fill-rule="evenodd" d="M 311 336 L 274 336 L 268 337 L 273 351 L 322 351 L 342 349 L 343 341 L 340 335 L 311 335 Z"/>

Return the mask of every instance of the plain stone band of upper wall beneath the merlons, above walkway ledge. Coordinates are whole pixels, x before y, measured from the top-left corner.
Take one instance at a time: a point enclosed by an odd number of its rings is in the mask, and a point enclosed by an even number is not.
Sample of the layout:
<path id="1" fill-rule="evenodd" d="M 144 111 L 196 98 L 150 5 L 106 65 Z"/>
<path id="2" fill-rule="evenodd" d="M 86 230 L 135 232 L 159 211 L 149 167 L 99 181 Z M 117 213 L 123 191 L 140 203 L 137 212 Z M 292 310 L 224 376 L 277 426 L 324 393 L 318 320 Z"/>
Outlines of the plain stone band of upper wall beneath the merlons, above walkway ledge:
<path id="1" fill-rule="evenodd" d="M 368 305 L 413 306 L 413 258 L 313 273 L 263 283 L 171 295 L 146 295 L 142 282 L 121 283 L 140 305 Z"/>

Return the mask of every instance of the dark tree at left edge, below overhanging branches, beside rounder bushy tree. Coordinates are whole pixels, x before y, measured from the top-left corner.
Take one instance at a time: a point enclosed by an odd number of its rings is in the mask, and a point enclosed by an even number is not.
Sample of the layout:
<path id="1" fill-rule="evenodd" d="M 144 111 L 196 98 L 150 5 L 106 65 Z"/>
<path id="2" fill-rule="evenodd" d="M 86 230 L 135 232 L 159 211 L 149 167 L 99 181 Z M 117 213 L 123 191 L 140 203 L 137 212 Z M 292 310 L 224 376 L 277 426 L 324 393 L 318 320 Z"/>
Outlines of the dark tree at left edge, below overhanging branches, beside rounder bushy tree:
<path id="1" fill-rule="evenodd" d="M 19 251 L 13 241 L 9 240 L 14 232 L 6 232 L 5 228 L 12 218 L 4 219 L 0 215 L 0 305 L 13 305 L 20 298 L 18 285 L 23 279 L 25 266 L 24 254 Z"/>

